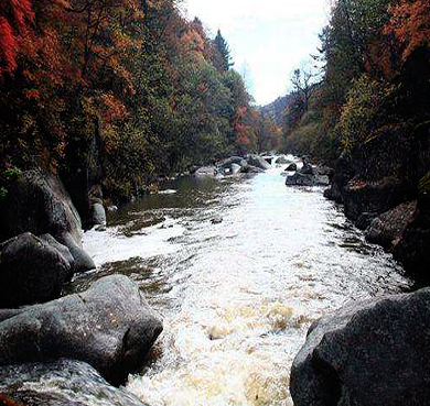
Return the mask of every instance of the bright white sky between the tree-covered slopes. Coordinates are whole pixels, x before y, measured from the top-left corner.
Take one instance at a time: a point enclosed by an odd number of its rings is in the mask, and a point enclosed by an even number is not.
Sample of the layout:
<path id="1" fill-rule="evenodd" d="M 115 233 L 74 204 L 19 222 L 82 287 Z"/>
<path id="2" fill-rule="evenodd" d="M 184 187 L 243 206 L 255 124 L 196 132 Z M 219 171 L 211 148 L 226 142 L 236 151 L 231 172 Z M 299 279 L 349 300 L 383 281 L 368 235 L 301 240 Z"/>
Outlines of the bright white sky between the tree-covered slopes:
<path id="1" fill-rule="evenodd" d="M 215 36 L 219 29 L 257 105 L 291 89 L 291 73 L 316 54 L 327 0 L 184 0 Z"/>

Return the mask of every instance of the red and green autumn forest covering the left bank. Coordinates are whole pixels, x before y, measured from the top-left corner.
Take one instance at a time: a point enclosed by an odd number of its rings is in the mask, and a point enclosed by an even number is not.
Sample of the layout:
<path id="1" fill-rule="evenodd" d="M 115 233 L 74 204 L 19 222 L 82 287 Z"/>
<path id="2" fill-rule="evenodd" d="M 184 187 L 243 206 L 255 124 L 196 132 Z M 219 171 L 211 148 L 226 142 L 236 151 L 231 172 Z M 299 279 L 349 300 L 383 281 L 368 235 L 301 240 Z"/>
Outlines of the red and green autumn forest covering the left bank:
<path id="1" fill-rule="evenodd" d="M 41 167 L 116 200 L 190 166 L 277 145 L 226 40 L 176 0 L 4 0 L 0 187 Z M 86 187 L 86 186 L 80 186 Z"/>

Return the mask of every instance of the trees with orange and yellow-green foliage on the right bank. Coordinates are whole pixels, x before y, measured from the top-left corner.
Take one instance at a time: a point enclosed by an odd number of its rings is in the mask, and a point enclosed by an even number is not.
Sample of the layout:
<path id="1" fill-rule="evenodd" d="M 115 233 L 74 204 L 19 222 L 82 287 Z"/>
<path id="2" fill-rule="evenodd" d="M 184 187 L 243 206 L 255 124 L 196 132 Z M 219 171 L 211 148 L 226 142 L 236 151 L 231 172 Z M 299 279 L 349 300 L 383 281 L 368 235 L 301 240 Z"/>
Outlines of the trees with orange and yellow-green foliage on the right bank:
<path id="1" fill-rule="evenodd" d="M 337 0 L 320 40 L 322 79 L 293 76 L 286 150 L 327 162 L 346 152 L 362 177 L 419 184 L 430 169 L 430 2 Z"/>

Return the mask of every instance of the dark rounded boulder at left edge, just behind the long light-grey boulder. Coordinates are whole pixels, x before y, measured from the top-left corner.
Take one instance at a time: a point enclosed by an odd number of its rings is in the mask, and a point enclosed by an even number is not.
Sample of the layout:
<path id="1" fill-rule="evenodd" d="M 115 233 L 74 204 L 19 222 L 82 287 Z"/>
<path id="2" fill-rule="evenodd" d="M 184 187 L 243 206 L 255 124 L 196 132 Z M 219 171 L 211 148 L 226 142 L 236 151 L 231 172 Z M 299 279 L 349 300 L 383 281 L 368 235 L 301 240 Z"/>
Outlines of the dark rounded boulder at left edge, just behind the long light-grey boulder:
<path id="1" fill-rule="evenodd" d="M 30 232 L 0 245 L 0 308 L 57 298 L 71 277 L 64 255 Z"/>

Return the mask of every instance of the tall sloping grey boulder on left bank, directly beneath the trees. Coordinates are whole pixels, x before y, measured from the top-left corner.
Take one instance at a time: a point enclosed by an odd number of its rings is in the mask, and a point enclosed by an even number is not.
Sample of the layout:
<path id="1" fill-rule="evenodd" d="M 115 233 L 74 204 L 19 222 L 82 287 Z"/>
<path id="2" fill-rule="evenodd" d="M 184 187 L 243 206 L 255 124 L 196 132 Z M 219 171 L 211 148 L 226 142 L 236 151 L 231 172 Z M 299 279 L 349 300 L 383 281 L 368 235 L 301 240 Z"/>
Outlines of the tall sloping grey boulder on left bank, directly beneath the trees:
<path id="1" fill-rule="evenodd" d="M 49 233 L 66 245 L 75 271 L 95 267 L 82 250 L 82 223 L 60 178 L 42 171 L 26 171 L 10 187 L 0 208 L 0 241 L 24 232 Z M 85 260 L 83 260 L 85 259 Z"/>

